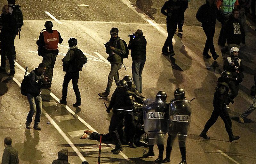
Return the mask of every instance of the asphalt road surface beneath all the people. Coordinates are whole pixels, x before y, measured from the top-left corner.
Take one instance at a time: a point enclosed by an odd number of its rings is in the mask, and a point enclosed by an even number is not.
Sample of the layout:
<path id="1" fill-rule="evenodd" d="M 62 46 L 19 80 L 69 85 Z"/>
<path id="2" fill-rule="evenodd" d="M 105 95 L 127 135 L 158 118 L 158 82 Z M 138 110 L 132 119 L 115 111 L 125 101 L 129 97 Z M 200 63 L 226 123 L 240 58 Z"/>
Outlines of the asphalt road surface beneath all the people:
<path id="1" fill-rule="evenodd" d="M 24 14 L 24 26 L 20 39 L 16 37 L 15 40 L 17 52 L 15 75 L 0 74 L 0 140 L 3 141 L 6 136 L 12 138 L 12 145 L 19 151 L 21 164 L 51 163 L 52 160 L 57 159 L 58 151 L 63 148 L 68 148 L 68 161 L 71 164 L 80 164 L 84 160 L 90 164 L 98 162 L 99 142 L 79 138 L 85 129 L 103 134 L 108 132 L 112 114 L 106 112 L 103 103 L 110 101 L 115 84 L 113 83 L 108 98 L 100 98 L 98 93 L 104 92 L 107 86 L 110 64 L 106 60 L 108 55 L 105 53 L 104 43 L 109 40 L 109 31 L 112 27 L 118 27 L 118 35 L 127 43 L 128 34 L 132 34 L 137 29 L 143 31 L 148 41 L 147 61 L 142 74 L 142 93 L 146 98 L 154 98 L 157 91 L 164 90 L 169 101 L 173 99 L 173 92 L 177 87 L 185 89 L 188 100 L 196 98 L 192 101 L 192 122 L 187 140 L 188 163 L 255 163 L 255 112 L 245 119 L 245 124 L 237 122 L 237 116 L 252 103 L 249 92 L 254 84 L 255 35 L 247 34 L 246 47 L 240 51 L 240 58 L 246 67 L 245 78 L 240 84 L 235 103 L 230 105 L 229 109 L 232 130 L 241 138 L 229 142 L 224 123 L 219 118 L 208 132 L 211 139 L 204 140 L 199 134 L 213 110 L 212 98 L 217 78 L 223 71 L 223 59 L 220 56 L 213 61 L 212 58 L 205 59 L 202 56 L 206 37 L 195 15 L 199 6 L 204 4 L 204 0 L 189 3 L 189 8 L 185 12 L 182 39 L 174 36 L 175 56 L 170 59 L 162 55 L 161 49 L 167 36 L 165 16 L 160 12 L 164 2 L 163 0 L 156 2 L 151 0 L 17 1 Z M 0 0 L 0 3 L 6 4 L 6 1 Z M 37 55 L 36 40 L 46 20 L 53 22 L 53 29 L 60 32 L 63 43 L 59 45 L 60 52 L 54 67 L 52 88 L 44 89 L 42 92 L 44 100 L 40 122 L 42 130 L 26 130 L 29 104 L 27 98 L 20 94 L 19 84 L 26 66 L 30 72 L 42 62 L 42 57 Z M 218 54 L 220 54 L 217 46 L 219 32 L 218 22 L 214 37 Z M 72 107 L 76 97 L 71 83 L 68 87 L 68 105 L 58 103 L 65 74 L 62 71 L 61 60 L 68 51 L 70 37 L 78 40 L 78 48 L 88 58 L 86 68 L 80 72 L 78 83 L 82 98 L 80 108 Z M 131 56 L 124 59 L 124 64 L 127 71 L 122 67 L 119 71 L 120 78 L 132 75 Z M 132 149 L 127 145 L 124 145 L 122 153 L 113 155 L 110 151 L 111 146 L 113 147 L 113 145 L 102 145 L 101 163 L 154 163 L 158 155 L 155 147 L 155 157 L 142 158 L 147 148 Z M 2 144 L 0 159 L 3 150 Z M 179 148 L 174 147 L 170 163 L 179 163 L 180 160 Z"/>

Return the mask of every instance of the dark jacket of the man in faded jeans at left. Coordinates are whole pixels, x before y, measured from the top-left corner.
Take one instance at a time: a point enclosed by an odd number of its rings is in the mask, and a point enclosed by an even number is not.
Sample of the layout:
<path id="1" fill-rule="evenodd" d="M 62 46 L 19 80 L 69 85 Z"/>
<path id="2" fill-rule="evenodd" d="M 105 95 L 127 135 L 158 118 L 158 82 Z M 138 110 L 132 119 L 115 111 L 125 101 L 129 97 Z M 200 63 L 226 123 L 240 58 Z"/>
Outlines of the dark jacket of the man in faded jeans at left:
<path id="1" fill-rule="evenodd" d="M 28 93 L 33 95 L 33 96 L 38 96 L 43 87 L 43 81 L 44 81 L 44 75 L 39 74 L 37 71 L 38 68 L 35 70 L 31 71 L 29 76 L 29 82 L 30 82 L 30 87 L 28 89 Z"/>

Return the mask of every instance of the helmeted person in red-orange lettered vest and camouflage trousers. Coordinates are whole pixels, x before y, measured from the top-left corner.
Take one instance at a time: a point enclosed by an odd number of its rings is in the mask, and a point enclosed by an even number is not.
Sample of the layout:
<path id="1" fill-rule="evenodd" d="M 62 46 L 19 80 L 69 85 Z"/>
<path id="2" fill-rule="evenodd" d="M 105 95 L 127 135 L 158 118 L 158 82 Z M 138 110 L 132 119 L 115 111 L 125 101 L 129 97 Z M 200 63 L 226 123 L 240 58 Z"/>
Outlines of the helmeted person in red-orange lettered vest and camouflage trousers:
<path id="1" fill-rule="evenodd" d="M 38 55 L 43 56 L 43 63 L 46 64 L 45 74 L 48 77 L 48 88 L 52 87 L 53 67 L 59 53 L 58 44 L 62 43 L 63 39 L 57 30 L 52 30 L 53 24 L 51 21 L 46 21 L 45 29 L 43 29 L 39 35 L 39 39 L 36 41 L 38 45 Z"/>

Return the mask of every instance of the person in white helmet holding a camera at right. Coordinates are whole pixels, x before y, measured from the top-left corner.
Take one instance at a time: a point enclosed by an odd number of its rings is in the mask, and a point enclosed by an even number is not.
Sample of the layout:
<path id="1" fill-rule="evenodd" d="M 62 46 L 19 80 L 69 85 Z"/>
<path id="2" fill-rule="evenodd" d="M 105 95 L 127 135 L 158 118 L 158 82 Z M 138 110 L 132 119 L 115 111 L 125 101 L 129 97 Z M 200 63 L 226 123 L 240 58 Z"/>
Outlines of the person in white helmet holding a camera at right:
<path id="1" fill-rule="evenodd" d="M 229 89 L 231 90 L 228 93 L 229 101 L 234 103 L 233 99 L 237 96 L 239 90 L 239 84 L 243 81 L 243 65 L 241 59 L 238 58 L 239 49 L 237 47 L 230 48 L 231 56 L 227 57 L 223 63 L 223 70 L 229 71 L 232 73 L 233 77 L 229 82 Z"/>

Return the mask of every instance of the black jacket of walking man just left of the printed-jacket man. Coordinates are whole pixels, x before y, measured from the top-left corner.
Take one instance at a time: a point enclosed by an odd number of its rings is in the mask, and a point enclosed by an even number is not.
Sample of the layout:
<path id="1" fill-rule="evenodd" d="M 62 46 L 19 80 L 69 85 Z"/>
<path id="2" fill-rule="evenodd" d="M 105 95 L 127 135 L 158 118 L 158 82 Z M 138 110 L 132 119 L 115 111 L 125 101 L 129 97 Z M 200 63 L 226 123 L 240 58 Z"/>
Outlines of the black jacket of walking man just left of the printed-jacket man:
<path id="1" fill-rule="evenodd" d="M 219 18 L 220 11 L 216 4 L 212 4 L 212 6 L 210 6 L 208 1 L 200 6 L 196 13 L 196 19 L 202 23 L 203 29 L 207 27 L 215 27 L 216 19 Z"/>

